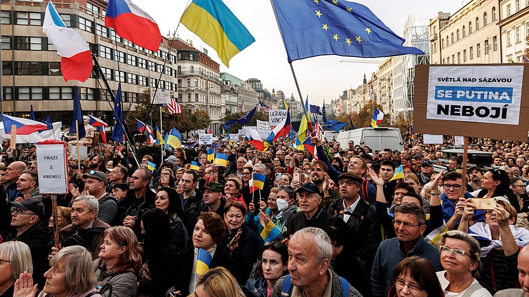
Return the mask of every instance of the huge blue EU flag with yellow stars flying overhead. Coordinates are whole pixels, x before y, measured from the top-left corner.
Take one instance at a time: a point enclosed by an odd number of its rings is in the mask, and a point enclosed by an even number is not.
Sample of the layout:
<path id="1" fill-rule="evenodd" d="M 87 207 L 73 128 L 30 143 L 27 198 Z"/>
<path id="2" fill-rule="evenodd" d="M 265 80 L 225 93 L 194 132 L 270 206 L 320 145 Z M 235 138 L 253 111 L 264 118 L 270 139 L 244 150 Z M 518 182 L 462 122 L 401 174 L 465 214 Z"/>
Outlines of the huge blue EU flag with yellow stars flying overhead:
<path id="1" fill-rule="evenodd" d="M 316 55 L 389 57 L 425 54 L 404 47 L 404 39 L 369 8 L 344 0 L 272 0 L 288 61 Z"/>

